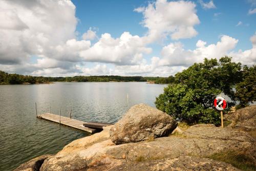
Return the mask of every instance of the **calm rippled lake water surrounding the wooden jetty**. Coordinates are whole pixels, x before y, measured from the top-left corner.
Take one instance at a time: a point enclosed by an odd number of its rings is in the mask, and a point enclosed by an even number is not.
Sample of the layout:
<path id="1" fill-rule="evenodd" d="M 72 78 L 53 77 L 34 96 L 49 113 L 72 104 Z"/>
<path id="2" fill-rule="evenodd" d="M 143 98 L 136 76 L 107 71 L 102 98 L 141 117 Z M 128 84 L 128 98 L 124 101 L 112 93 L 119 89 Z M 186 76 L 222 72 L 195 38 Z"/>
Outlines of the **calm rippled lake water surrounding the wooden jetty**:
<path id="1" fill-rule="evenodd" d="M 55 154 L 88 133 L 37 119 L 48 112 L 82 121 L 116 122 L 134 104 L 155 106 L 166 85 L 145 82 L 84 82 L 0 86 L 0 170 L 44 154 Z M 129 99 L 127 100 L 127 94 Z"/>

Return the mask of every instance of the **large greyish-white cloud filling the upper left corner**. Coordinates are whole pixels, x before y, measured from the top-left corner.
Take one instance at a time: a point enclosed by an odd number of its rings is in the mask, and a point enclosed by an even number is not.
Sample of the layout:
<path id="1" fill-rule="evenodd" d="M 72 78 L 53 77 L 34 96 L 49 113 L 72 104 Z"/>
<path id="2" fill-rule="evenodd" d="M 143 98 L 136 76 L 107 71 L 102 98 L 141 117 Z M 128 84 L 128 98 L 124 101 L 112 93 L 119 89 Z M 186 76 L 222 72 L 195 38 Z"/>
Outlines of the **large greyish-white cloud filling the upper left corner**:
<path id="1" fill-rule="evenodd" d="M 54 47 L 75 38 L 77 18 L 71 1 L 0 1 L 0 19 L 0 63 L 54 54 Z"/>

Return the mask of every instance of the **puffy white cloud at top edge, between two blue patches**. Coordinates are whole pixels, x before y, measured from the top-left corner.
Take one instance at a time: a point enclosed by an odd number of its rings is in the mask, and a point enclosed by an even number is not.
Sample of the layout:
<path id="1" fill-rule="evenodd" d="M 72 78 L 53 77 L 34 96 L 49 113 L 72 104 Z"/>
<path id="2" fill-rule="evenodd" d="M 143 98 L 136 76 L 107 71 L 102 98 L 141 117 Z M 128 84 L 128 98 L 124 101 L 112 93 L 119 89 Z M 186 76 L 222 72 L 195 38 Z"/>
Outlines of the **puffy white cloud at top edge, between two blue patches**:
<path id="1" fill-rule="evenodd" d="M 194 26 L 200 21 L 196 5 L 189 1 L 167 2 L 158 0 L 147 7 L 135 9 L 142 12 L 143 26 L 148 28 L 147 41 L 152 42 L 166 36 L 172 39 L 191 38 L 197 35 Z"/>

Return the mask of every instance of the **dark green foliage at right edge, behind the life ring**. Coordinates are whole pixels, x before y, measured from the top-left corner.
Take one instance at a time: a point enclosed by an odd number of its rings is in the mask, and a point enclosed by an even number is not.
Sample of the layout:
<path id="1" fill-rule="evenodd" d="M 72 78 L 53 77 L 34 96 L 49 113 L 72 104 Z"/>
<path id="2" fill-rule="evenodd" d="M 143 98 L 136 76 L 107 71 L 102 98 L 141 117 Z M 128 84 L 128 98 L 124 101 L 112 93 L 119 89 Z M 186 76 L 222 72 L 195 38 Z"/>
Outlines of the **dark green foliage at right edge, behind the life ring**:
<path id="1" fill-rule="evenodd" d="M 236 97 L 240 103 L 236 109 L 244 108 L 249 102 L 256 101 L 256 66 L 243 68 L 243 80 L 236 86 Z"/>

